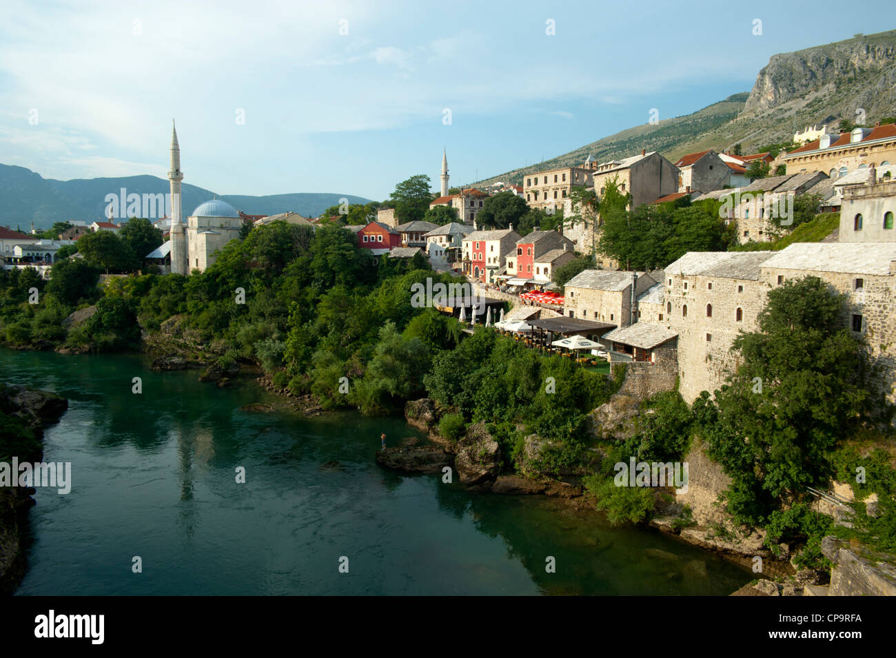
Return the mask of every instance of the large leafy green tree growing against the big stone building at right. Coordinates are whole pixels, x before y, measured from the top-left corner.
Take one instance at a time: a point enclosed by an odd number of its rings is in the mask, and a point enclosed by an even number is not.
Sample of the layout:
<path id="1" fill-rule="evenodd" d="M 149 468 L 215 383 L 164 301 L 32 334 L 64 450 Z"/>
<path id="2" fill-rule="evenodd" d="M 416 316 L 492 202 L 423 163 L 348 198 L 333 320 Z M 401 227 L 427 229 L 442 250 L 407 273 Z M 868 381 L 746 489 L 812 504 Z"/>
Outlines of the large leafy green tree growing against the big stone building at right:
<path id="1" fill-rule="evenodd" d="M 734 349 L 743 363 L 694 413 L 710 456 L 731 477 L 728 511 L 762 525 L 831 476 L 825 457 L 869 412 L 870 372 L 861 342 L 843 326 L 846 295 L 817 277 L 773 288 L 759 330 Z"/>

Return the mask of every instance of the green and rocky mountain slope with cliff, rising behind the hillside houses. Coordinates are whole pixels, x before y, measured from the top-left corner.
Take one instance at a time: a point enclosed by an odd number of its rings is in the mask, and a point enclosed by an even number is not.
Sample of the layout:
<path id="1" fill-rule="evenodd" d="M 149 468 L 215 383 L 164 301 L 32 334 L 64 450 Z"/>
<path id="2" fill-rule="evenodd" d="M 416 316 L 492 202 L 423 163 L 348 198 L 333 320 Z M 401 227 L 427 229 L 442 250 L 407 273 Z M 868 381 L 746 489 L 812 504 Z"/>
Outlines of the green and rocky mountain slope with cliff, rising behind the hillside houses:
<path id="1" fill-rule="evenodd" d="M 685 153 L 727 150 L 737 143 L 744 153 L 751 153 L 767 144 L 788 142 L 807 125 L 828 124 L 834 129 L 841 119 L 860 124 L 863 115 L 865 125 L 896 116 L 896 30 L 771 56 L 749 94 L 735 94 L 659 124 L 636 125 L 475 184 L 521 184 L 525 174 L 581 166 L 589 154 L 603 162 L 642 149 L 657 150 L 675 162 Z"/>

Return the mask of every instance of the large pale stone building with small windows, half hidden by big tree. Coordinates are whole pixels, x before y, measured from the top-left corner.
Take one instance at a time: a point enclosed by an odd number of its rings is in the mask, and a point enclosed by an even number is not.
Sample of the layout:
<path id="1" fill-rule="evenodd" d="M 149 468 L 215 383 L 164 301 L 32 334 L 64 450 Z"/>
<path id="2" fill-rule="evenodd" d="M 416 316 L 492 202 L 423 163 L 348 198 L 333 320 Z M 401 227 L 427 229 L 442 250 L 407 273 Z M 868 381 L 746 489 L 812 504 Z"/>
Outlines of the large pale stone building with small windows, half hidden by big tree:
<path id="1" fill-rule="evenodd" d="M 780 252 L 689 252 L 668 266 L 667 326 L 678 334 L 678 377 L 687 402 L 719 389 L 736 371 L 734 340 L 758 329 L 768 292 L 807 276 L 849 295 L 844 326 L 865 338 L 883 365 L 892 400 L 896 243 L 797 243 Z"/>

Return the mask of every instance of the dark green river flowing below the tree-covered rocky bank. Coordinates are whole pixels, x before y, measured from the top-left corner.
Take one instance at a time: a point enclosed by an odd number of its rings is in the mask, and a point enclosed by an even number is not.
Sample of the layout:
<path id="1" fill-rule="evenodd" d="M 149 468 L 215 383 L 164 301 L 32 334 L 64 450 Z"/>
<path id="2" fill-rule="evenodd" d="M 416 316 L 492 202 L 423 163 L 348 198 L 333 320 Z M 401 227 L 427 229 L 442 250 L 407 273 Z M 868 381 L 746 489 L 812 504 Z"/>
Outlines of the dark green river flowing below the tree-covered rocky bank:
<path id="1" fill-rule="evenodd" d="M 71 463 L 72 490 L 38 489 L 16 594 L 718 595 L 752 580 L 597 512 L 384 471 L 380 432 L 423 437 L 401 418 L 241 411 L 273 397 L 149 363 L 0 350 L 0 381 L 69 399 L 44 460 Z"/>

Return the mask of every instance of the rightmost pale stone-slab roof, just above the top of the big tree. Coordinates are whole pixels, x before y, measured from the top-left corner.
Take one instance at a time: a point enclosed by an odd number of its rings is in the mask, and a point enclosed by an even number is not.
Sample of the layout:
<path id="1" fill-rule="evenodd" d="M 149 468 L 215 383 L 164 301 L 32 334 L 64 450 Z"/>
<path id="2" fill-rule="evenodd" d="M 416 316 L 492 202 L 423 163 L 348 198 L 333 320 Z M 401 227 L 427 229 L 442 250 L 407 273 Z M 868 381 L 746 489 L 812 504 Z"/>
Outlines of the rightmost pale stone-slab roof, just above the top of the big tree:
<path id="1" fill-rule="evenodd" d="M 796 243 L 774 252 L 763 268 L 844 274 L 891 274 L 896 243 Z"/>

